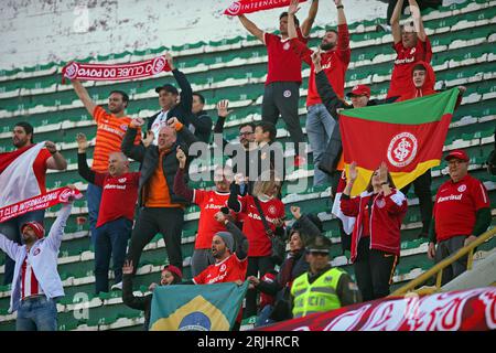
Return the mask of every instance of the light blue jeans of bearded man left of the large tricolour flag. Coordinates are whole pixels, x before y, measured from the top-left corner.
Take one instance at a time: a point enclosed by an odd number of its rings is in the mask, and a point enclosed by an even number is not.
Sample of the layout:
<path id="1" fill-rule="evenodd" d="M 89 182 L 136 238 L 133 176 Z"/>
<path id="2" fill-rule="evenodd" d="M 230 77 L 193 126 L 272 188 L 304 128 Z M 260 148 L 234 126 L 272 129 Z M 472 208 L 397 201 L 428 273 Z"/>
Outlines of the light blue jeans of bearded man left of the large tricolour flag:
<path id="1" fill-rule="evenodd" d="M 313 151 L 313 164 L 315 165 L 313 185 L 320 186 L 331 182 L 328 175 L 316 168 L 316 165 L 321 161 L 321 157 L 327 147 L 333 129 L 337 128 L 337 125 L 323 104 L 310 106 L 308 107 L 308 111 L 305 127 L 309 142 Z"/>

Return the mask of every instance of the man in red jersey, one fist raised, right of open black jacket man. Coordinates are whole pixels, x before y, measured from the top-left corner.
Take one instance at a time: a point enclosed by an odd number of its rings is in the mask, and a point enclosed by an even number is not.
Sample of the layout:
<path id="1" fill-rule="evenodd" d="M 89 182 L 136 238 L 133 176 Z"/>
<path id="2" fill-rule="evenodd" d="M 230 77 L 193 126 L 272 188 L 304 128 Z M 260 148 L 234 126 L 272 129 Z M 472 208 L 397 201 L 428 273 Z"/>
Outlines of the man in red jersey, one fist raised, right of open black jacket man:
<path id="1" fill-rule="evenodd" d="M 214 172 L 215 190 L 192 190 L 184 182 L 186 154 L 180 148 L 177 148 L 176 158 L 180 168 L 174 179 L 174 193 L 188 202 L 197 204 L 201 210 L 195 250 L 191 259 L 191 270 L 194 277 L 215 263 L 211 250 L 212 239 L 217 232 L 226 232 L 226 226 L 215 221 L 215 214 L 227 207 L 233 171 L 229 167 L 217 167 Z"/>

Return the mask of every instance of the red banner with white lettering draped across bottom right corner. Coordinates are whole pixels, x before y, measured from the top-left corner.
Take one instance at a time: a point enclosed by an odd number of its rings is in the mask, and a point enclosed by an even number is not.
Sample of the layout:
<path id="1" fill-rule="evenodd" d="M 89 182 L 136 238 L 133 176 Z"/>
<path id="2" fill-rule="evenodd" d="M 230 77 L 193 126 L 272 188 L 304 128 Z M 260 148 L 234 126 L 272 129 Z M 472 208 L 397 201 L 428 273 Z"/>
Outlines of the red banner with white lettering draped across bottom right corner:
<path id="1" fill-rule="evenodd" d="M 488 331 L 496 288 L 384 298 L 260 328 L 260 331 Z"/>

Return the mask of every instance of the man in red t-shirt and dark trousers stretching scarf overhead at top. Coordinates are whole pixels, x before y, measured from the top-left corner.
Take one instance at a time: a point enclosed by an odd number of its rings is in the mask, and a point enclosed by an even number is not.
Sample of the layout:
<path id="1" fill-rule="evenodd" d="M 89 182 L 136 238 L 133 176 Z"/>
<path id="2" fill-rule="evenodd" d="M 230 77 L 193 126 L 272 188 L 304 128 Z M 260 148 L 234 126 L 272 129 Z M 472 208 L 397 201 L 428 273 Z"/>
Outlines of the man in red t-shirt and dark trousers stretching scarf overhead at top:
<path id="1" fill-rule="evenodd" d="M 319 9 L 319 1 L 313 0 L 309 10 L 309 17 L 303 22 L 301 30 L 296 29 L 300 41 L 306 43 L 308 35 Z M 292 141 L 295 143 L 294 165 L 296 168 L 304 163 L 299 156 L 299 143 L 304 142 L 303 131 L 298 116 L 298 101 L 301 85 L 301 61 L 291 50 L 288 32 L 288 12 L 279 17 L 280 36 L 263 32 L 244 14 L 238 15 L 241 24 L 252 35 L 258 38 L 266 46 L 268 53 L 268 73 L 262 101 L 262 120 L 278 122 L 279 115 L 284 120 Z M 298 20 L 295 20 L 299 25 Z"/>

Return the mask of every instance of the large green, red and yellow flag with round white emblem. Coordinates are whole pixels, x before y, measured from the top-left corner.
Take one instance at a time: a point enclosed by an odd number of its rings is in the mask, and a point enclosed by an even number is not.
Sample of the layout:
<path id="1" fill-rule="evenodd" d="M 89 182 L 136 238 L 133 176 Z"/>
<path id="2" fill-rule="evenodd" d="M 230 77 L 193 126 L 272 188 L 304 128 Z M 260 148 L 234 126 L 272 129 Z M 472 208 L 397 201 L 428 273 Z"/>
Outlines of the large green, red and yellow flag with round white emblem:
<path id="1" fill-rule="evenodd" d="M 459 89 L 388 105 L 344 110 L 339 117 L 346 172 L 357 163 L 352 195 L 362 193 L 386 161 L 401 189 L 439 165 Z"/>

